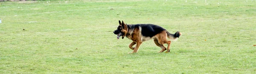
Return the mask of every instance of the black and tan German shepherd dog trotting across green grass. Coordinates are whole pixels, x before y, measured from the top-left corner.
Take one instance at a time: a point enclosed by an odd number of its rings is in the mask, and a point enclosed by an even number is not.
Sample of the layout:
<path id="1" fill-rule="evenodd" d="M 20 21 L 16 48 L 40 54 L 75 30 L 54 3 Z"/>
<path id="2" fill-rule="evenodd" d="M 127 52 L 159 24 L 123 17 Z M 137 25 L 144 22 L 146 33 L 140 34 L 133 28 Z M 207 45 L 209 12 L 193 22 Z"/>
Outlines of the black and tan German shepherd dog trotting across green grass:
<path id="1" fill-rule="evenodd" d="M 119 39 L 122 36 L 122 39 L 124 37 L 127 37 L 128 39 L 131 39 L 133 42 L 129 45 L 129 48 L 134 50 L 131 53 L 136 53 L 141 45 L 146 40 L 153 39 L 154 43 L 162 48 L 161 51 L 163 52 L 166 50 L 166 47 L 163 46 L 163 44 L 168 44 L 166 53 L 170 52 L 170 45 L 171 41 L 167 40 L 167 38 L 171 40 L 177 40 L 178 37 L 180 37 L 181 33 L 180 31 L 177 31 L 175 34 L 170 34 L 166 29 L 154 25 L 154 24 L 134 24 L 134 25 L 127 25 L 123 21 L 119 20 L 119 26 L 115 31 L 113 31 L 114 34 L 117 34 L 117 39 Z M 137 44 L 134 47 L 135 44 Z"/>

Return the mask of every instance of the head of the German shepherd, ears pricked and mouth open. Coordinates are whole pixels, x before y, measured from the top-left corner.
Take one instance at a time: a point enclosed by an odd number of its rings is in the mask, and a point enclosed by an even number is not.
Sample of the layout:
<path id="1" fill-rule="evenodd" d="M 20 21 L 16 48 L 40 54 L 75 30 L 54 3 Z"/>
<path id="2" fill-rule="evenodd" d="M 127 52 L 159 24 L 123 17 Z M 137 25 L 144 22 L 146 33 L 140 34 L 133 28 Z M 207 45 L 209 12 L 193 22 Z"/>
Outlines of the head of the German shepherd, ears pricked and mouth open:
<path id="1" fill-rule="evenodd" d="M 128 28 L 127 25 L 124 23 L 124 21 L 119 20 L 119 26 L 114 32 L 114 34 L 117 34 L 117 39 L 119 39 L 122 36 L 122 39 L 124 39 L 125 35 L 127 34 Z"/>

